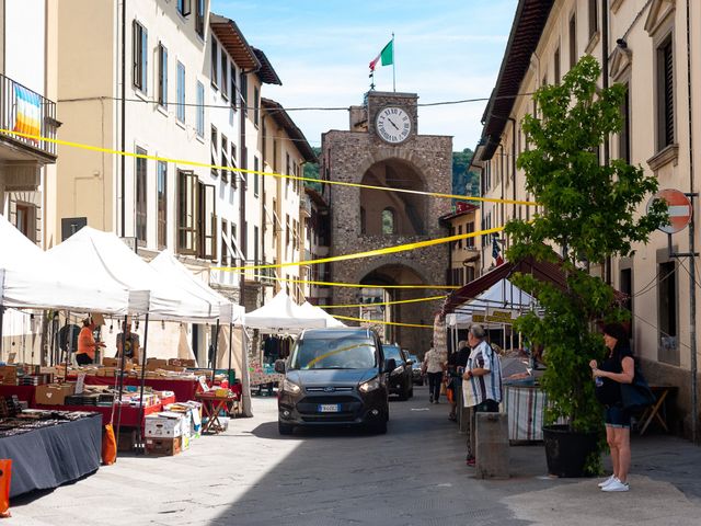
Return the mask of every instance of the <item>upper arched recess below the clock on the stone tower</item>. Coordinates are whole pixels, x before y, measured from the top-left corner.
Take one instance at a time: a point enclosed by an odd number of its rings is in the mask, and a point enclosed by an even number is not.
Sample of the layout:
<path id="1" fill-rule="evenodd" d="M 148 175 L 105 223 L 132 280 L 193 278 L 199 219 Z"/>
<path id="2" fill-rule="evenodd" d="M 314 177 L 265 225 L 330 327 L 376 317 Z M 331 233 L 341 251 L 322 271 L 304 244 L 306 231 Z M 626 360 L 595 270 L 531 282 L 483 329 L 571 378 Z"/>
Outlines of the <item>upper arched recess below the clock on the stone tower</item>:
<path id="1" fill-rule="evenodd" d="M 360 183 L 369 186 L 426 191 L 426 182 L 411 162 L 390 158 L 371 164 Z M 360 190 L 361 231 L 368 236 L 423 236 L 427 231 L 425 195 Z M 391 218 L 391 225 L 388 220 Z"/>

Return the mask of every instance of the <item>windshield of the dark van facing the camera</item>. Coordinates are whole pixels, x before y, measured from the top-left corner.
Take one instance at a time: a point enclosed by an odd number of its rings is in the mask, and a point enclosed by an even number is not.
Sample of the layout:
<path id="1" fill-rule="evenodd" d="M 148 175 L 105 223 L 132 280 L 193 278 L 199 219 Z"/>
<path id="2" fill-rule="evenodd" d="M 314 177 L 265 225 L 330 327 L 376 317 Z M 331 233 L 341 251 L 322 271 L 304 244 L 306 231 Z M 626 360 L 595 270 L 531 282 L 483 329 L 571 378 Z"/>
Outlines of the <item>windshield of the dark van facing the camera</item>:
<path id="1" fill-rule="evenodd" d="M 377 366 L 375 342 L 369 338 L 298 340 L 291 369 L 369 369 Z"/>

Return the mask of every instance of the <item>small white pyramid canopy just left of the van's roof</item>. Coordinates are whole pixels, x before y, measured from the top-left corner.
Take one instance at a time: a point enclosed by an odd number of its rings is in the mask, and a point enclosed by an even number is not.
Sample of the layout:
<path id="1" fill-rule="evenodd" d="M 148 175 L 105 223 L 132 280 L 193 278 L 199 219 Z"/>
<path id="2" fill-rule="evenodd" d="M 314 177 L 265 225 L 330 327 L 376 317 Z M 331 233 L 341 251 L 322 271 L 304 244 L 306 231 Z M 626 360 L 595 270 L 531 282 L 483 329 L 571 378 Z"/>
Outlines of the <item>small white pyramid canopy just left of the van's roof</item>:
<path id="1" fill-rule="evenodd" d="M 325 320 L 309 316 L 281 290 L 260 309 L 248 312 L 244 320 L 246 328 L 271 332 L 300 332 L 326 327 Z"/>

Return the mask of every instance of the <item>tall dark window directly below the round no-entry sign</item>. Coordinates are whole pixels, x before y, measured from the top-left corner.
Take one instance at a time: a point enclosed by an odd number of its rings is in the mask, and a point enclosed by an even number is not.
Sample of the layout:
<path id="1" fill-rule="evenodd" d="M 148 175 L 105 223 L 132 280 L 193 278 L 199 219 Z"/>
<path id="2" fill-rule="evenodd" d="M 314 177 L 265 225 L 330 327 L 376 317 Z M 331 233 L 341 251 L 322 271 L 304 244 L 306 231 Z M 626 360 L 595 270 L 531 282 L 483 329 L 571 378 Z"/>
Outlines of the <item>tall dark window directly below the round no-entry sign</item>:
<path id="1" fill-rule="evenodd" d="M 675 262 L 659 265 L 657 274 L 657 312 L 659 316 L 659 361 L 679 364 L 677 342 L 677 273 Z"/>

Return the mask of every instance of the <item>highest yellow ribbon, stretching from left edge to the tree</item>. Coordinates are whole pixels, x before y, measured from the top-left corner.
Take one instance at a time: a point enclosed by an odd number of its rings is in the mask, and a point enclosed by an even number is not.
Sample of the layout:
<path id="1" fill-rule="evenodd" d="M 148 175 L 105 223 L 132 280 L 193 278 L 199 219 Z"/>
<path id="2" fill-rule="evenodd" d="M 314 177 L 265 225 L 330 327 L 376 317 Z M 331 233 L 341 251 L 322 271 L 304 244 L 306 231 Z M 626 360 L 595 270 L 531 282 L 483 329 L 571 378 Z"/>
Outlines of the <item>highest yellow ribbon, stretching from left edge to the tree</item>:
<path id="1" fill-rule="evenodd" d="M 4 128 L 0 128 L 0 134 L 15 135 L 18 137 L 24 137 L 26 139 L 43 140 L 45 142 L 51 142 L 54 145 L 70 146 L 71 148 L 79 148 L 81 150 L 89 150 L 89 151 L 97 151 L 97 152 L 101 152 L 101 153 L 110 153 L 110 155 L 114 155 L 114 156 L 125 156 L 125 157 L 131 157 L 131 158 L 135 158 L 135 159 L 148 159 L 148 160 L 151 160 L 151 161 L 171 162 L 171 163 L 174 163 L 174 164 L 182 164 L 182 165 L 188 165 L 188 167 L 198 167 L 198 168 L 207 168 L 207 169 L 210 169 L 210 170 L 226 170 L 226 171 L 229 171 L 229 172 L 251 173 L 251 174 L 254 174 L 254 175 L 262 175 L 262 176 L 290 179 L 290 180 L 294 180 L 294 181 L 303 181 L 303 182 L 308 182 L 308 183 L 335 184 L 337 186 L 350 186 L 350 187 L 356 187 L 356 188 L 379 190 L 379 191 L 382 191 L 382 192 L 399 192 L 399 193 L 402 193 L 402 194 L 426 195 L 428 197 L 440 197 L 440 198 L 445 198 L 445 199 L 476 201 L 476 202 L 483 202 L 483 203 L 503 203 L 503 204 L 506 204 L 506 205 L 538 206 L 538 203 L 533 203 L 532 201 L 497 199 L 497 198 L 494 198 L 494 197 L 473 197 L 473 196 L 470 196 L 470 195 L 443 194 L 443 193 L 439 193 L 439 192 L 424 192 L 424 191 L 421 191 L 421 190 L 391 188 L 391 187 L 388 187 L 388 186 L 375 186 L 375 185 L 370 185 L 370 184 L 348 183 L 348 182 L 344 182 L 344 181 L 325 181 L 325 180 L 321 180 L 321 179 L 304 178 L 304 176 L 300 176 L 300 175 L 287 175 L 285 173 L 261 172 L 258 170 L 249 170 L 249 169 L 244 169 L 244 168 L 222 167 L 222 165 L 219 165 L 219 164 L 208 164 L 206 162 L 189 161 L 187 159 L 172 159 L 172 158 L 168 158 L 168 157 L 149 156 L 148 153 L 136 153 L 136 152 L 131 152 L 131 151 L 115 150 L 113 148 L 103 148 L 103 147 L 100 147 L 100 146 L 85 145 L 85 144 L 82 144 L 82 142 L 72 142 L 72 141 L 69 141 L 69 140 L 53 139 L 50 137 L 43 137 L 41 135 L 33 135 L 33 134 L 23 134 L 23 133 L 20 133 L 20 132 L 13 132 L 11 129 L 4 129 Z"/>

